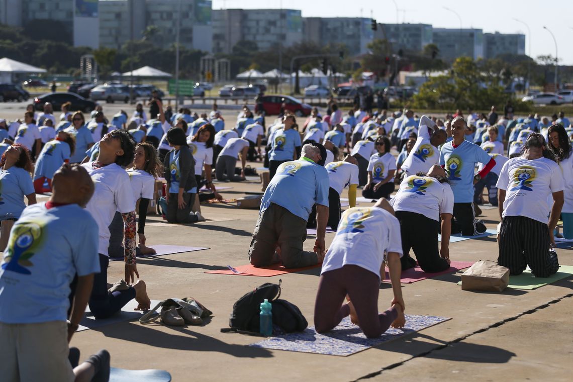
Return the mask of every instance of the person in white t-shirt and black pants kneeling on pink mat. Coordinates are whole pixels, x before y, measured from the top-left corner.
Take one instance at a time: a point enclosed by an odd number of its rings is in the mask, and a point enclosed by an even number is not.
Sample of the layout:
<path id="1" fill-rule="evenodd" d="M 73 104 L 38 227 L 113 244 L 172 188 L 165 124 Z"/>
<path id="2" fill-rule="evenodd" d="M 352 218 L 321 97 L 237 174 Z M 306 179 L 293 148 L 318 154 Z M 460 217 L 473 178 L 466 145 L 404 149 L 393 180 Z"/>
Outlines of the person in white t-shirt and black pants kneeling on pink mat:
<path id="1" fill-rule="evenodd" d="M 418 172 L 417 175 L 408 176 L 390 203 L 400 221 L 404 254 L 401 258 L 402 270 L 416 266 L 416 261 L 409 255 L 410 248 L 414 250 L 423 271 L 448 269 L 454 194 L 446 179 L 446 170 L 434 164 L 427 174 Z M 442 243 L 438 251 L 439 232 L 442 233 Z"/>

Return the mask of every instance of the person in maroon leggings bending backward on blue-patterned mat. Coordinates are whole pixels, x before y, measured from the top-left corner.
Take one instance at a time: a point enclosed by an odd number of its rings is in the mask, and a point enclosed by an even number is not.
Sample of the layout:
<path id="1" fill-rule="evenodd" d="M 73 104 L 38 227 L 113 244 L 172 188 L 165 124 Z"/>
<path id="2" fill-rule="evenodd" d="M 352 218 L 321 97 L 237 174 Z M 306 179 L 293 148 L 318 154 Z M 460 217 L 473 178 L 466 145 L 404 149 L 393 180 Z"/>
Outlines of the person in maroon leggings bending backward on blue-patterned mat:
<path id="1" fill-rule="evenodd" d="M 394 299 L 386 312 L 378 313 L 380 275 L 385 274 L 384 251 Z M 390 325 L 402 328 L 406 320 L 400 285 L 401 256 L 400 225 L 386 199 L 378 200 L 374 207 L 344 211 L 320 275 L 316 331 L 332 330 L 349 314 L 368 338 L 379 337 Z M 345 296 L 348 304 L 342 305 Z"/>

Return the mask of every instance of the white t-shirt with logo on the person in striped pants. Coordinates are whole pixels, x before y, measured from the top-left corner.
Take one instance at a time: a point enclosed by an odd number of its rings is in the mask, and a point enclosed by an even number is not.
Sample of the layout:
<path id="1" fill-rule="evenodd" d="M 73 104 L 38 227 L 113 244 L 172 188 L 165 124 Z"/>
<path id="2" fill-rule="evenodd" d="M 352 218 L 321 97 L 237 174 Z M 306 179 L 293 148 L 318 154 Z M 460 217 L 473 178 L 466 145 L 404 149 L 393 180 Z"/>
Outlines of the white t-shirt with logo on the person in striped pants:
<path id="1" fill-rule="evenodd" d="M 559 165 L 550 159 L 509 159 L 501 168 L 496 187 L 505 190 L 502 216 L 526 216 L 547 224 L 551 206 L 548 195 L 563 191 Z"/>

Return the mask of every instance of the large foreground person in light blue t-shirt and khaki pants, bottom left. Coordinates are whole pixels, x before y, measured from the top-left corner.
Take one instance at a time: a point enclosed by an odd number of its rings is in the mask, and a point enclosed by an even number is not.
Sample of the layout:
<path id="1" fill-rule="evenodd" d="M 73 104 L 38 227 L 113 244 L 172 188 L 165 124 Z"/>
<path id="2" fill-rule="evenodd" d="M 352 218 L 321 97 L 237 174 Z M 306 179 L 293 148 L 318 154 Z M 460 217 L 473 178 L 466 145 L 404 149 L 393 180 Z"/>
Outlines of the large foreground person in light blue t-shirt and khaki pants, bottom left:
<path id="1" fill-rule="evenodd" d="M 78 164 L 54 174 L 48 202 L 27 207 L 12 227 L 0 269 L 0 359 L 5 381 L 107 381 L 109 353 L 72 369 L 68 342 L 99 273 L 98 228 L 84 210 L 93 182 Z M 70 282 L 77 273 L 70 305 Z M 66 323 L 66 319 L 69 321 Z M 77 365 L 79 354 L 73 363 Z"/>

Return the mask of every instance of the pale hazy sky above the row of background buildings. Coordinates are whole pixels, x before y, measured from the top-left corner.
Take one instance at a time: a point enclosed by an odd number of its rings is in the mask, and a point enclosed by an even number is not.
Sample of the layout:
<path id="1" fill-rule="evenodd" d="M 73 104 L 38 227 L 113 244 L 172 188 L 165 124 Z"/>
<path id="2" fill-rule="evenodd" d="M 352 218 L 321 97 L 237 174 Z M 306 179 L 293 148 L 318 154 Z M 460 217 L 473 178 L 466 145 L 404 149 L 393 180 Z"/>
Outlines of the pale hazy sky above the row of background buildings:
<path id="1" fill-rule="evenodd" d="M 434 27 L 459 28 L 457 16 L 444 9 L 448 7 L 460 14 L 462 26 L 482 29 L 484 33 L 524 33 L 525 53 L 529 52 L 531 29 L 531 56 L 555 56 L 555 43 L 547 26 L 557 40 L 560 64 L 573 65 L 573 16 L 571 0 L 395 0 L 399 22 L 428 23 Z M 300 9 L 303 17 L 372 17 L 381 23 L 397 22 L 397 7 L 392 0 L 213 0 L 213 9 L 225 8 L 288 8 Z M 558 22 L 554 22 L 557 17 Z"/>

